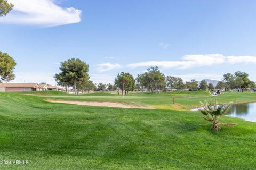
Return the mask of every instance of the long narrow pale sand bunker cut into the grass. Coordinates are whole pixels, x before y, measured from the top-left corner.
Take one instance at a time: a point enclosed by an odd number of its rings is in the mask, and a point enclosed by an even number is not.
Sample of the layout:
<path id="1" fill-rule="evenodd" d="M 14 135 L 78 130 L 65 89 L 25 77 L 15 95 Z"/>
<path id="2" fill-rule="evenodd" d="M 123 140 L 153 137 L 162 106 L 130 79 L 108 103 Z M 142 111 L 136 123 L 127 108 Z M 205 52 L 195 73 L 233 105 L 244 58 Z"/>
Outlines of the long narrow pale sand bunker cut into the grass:
<path id="1" fill-rule="evenodd" d="M 49 101 L 52 103 L 65 103 L 65 104 L 84 105 L 84 106 L 153 109 L 151 107 L 126 105 L 122 103 L 115 103 L 115 102 L 109 102 L 109 101 L 70 101 L 70 100 L 67 101 L 67 100 L 53 100 L 53 99 L 47 99 L 46 101 Z"/>

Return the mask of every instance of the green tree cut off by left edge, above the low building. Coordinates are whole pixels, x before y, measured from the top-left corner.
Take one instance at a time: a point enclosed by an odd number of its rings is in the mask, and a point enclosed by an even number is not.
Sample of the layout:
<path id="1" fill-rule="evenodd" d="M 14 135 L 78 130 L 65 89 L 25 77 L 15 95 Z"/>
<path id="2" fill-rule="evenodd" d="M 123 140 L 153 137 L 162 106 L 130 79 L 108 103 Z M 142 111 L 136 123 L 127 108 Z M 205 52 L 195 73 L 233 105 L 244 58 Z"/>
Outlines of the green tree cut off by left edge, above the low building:
<path id="1" fill-rule="evenodd" d="M 0 52 L 0 78 L 3 81 L 9 82 L 15 79 L 13 74 L 15 66 L 16 63 L 10 55 Z"/>

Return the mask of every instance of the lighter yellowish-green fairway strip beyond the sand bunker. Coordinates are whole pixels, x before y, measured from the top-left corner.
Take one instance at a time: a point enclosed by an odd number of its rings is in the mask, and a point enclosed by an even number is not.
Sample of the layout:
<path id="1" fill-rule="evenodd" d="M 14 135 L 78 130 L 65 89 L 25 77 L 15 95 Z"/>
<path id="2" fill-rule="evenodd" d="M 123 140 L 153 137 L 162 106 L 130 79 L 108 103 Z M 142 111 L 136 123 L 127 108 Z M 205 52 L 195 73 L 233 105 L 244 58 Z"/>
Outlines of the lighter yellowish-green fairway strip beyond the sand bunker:
<path id="1" fill-rule="evenodd" d="M 198 107 L 200 101 L 217 100 L 219 103 L 229 103 L 237 101 L 248 103 L 256 101 L 255 92 L 225 92 L 218 96 L 211 96 L 207 91 L 188 91 L 188 92 L 167 92 L 151 95 L 150 93 L 129 94 L 123 98 L 121 95 L 108 92 L 98 92 L 85 95 L 55 95 L 44 96 L 46 98 L 84 100 L 84 101 L 118 101 L 124 103 L 133 103 L 142 106 L 150 106 L 158 109 L 191 109 Z M 174 104 L 173 104 L 174 98 Z"/>

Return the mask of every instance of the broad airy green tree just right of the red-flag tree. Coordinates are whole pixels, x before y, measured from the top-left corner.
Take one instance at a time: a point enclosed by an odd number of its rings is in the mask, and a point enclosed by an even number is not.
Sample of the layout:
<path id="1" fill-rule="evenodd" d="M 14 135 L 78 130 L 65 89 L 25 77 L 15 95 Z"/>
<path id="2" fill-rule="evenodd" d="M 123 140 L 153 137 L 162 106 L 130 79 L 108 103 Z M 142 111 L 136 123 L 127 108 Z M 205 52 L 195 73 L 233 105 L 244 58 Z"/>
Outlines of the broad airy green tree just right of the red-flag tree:
<path id="1" fill-rule="evenodd" d="M 154 89 L 157 92 L 157 90 L 161 90 L 166 86 L 165 76 L 157 66 L 148 68 L 147 72 L 138 75 L 136 80 L 142 88 L 151 89 L 152 94 Z"/>

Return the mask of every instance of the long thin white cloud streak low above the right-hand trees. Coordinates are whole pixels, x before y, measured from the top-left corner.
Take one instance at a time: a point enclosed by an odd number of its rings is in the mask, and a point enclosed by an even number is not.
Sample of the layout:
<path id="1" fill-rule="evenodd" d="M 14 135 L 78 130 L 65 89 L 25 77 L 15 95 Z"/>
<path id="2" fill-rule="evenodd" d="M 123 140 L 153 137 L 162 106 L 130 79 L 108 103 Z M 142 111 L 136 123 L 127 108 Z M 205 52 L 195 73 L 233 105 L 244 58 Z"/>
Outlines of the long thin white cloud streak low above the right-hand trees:
<path id="1" fill-rule="evenodd" d="M 164 69 L 190 69 L 203 66 L 211 66 L 215 64 L 236 64 L 236 63 L 256 63 L 255 56 L 224 56 L 222 54 L 207 55 L 185 55 L 180 61 L 146 61 L 140 63 L 127 64 L 126 67 L 148 67 L 159 66 Z"/>

